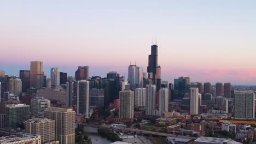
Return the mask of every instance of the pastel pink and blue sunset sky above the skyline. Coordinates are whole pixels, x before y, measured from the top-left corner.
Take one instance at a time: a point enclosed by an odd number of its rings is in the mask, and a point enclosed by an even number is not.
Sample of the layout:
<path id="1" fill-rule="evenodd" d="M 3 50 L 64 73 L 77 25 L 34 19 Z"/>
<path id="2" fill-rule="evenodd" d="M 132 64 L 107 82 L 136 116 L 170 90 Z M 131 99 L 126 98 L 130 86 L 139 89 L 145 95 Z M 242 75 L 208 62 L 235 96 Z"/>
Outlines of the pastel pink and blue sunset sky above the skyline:
<path id="1" fill-rule="evenodd" d="M 162 80 L 256 85 L 256 1 L 0 1 L 0 69 L 30 61 L 90 76 L 147 71 L 156 35 Z"/>

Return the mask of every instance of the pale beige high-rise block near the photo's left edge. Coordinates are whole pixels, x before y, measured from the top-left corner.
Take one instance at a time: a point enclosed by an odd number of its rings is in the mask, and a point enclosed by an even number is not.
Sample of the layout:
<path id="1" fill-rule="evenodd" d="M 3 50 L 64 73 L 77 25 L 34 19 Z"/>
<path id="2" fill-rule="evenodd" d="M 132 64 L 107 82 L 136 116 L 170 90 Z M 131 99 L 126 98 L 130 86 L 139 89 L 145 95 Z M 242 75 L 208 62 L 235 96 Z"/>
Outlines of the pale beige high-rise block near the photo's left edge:
<path id="1" fill-rule="evenodd" d="M 22 82 L 17 77 L 10 77 L 8 79 L 7 91 L 14 92 L 14 95 L 20 96 L 22 93 Z"/>

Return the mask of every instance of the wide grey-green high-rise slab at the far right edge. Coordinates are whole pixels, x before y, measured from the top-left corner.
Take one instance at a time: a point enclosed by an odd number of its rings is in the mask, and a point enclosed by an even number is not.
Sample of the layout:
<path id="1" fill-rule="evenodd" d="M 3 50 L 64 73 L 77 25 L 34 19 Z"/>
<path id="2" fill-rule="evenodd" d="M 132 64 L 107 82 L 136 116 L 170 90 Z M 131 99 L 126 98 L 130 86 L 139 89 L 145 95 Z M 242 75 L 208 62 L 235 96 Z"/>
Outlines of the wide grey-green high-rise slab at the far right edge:
<path id="1" fill-rule="evenodd" d="M 234 117 L 240 119 L 254 118 L 255 94 L 253 91 L 235 91 Z"/>

